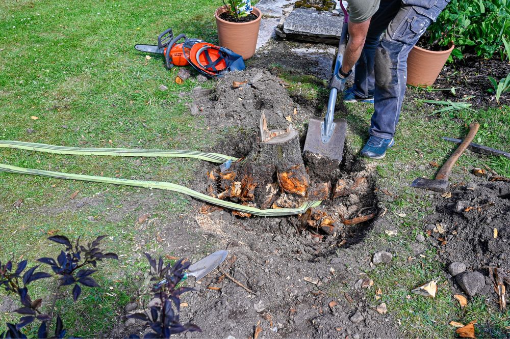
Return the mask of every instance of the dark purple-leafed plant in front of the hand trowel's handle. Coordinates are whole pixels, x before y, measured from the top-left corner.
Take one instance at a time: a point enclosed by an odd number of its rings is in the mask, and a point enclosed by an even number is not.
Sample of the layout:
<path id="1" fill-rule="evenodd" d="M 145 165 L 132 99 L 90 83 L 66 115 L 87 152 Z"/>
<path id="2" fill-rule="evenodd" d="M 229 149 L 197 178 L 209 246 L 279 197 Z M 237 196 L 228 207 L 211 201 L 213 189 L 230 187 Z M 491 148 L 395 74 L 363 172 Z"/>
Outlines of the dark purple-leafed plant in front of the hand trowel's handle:
<path id="1" fill-rule="evenodd" d="M 163 284 L 157 284 L 152 287 L 151 292 L 154 298 L 159 298 L 161 303 L 151 306 L 148 313 L 135 313 L 127 318 L 140 319 L 145 321 L 145 326 L 151 329 L 151 332 L 145 334 L 144 338 L 169 338 L 170 335 L 184 331 L 200 331 L 200 328 L 194 324 L 181 324 L 179 322 L 179 313 L 181 308 L 181 294 L 191 291 L 189 287 L 178 287 L 183 280 L 183 272 L 190 265 L 189 261 L 183 259 L 177 261 L 173 266 L 164 265 L 163 259 L 159 261 L 145 253 L 150 264 L 150 281 Z M 173 308 L 175 306 L 175 309 Z M 138 335 L 132 335 L 131 338 L 138 338 Z"/>

